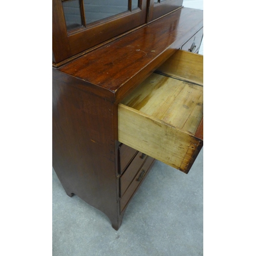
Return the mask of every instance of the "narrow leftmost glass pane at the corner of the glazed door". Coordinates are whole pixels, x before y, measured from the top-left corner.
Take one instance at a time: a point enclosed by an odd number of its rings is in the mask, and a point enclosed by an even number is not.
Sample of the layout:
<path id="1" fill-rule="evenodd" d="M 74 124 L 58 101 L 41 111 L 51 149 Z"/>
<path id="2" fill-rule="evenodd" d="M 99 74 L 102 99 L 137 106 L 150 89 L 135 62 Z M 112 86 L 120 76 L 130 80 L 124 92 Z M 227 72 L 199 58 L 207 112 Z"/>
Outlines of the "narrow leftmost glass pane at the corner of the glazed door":
<path id="1" fill-rule="evenodd" d="M 82 27 L 79 0 L 62 2 L 67 30 Z"/>

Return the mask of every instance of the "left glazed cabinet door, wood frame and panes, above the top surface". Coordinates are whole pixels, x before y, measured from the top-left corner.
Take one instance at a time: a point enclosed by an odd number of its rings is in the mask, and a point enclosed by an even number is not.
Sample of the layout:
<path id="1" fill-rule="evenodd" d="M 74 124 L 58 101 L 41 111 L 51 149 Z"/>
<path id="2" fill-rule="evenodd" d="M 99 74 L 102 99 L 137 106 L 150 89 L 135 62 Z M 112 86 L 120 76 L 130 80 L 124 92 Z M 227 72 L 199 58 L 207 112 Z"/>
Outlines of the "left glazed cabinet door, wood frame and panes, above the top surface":
<path id="1" fill-rule="evenodd" d="M 53 0 L 53 62 L 146 23 L 146 0 Z"/>

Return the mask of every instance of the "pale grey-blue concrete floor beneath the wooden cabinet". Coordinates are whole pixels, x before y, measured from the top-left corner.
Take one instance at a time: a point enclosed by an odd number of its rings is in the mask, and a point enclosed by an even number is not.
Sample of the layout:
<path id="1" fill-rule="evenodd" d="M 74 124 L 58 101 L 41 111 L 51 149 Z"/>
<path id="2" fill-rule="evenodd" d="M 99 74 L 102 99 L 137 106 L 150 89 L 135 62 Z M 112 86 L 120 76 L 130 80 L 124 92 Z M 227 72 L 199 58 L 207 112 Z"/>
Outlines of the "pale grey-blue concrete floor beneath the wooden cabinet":
<path id="1" fill-rule="evenodd" d="M 53 170 L 53 256 L 203 255 L 203 149 L 186 175 L 157 161 L 118 231 Z"/>

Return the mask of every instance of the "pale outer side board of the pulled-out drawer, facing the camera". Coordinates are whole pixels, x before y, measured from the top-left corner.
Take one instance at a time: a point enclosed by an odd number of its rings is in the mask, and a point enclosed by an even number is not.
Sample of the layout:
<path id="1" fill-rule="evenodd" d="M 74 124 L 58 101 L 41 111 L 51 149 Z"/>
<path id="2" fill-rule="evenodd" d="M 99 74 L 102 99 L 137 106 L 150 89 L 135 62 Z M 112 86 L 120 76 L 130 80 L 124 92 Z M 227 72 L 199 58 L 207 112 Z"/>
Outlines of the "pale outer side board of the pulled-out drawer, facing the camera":
<path id="1" fill-rule="evenodd" d="M 146 155 L 188 173 L 186 155 L 192 160 L 201 140 L 162 120 L 118 105 L 118 140 Z"/>

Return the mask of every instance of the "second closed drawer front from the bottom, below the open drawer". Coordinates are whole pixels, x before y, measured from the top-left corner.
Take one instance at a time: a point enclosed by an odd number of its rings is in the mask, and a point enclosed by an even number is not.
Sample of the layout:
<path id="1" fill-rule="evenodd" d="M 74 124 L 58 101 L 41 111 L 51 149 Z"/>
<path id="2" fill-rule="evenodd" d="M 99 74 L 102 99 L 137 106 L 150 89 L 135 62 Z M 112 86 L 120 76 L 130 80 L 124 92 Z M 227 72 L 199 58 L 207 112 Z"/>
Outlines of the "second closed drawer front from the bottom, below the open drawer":
<path id="1" fill-rule="evenodd" d="M 146 155 L 138 152 L 133 161 L 127 167 L 123 175 L 120 177 L 120 197 L 123 196 L 127 187 L 131 184 L 136 174 L 139 172 L 141 165 L 146 160 Z"/>

